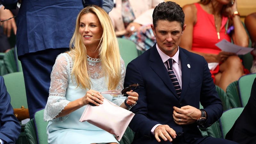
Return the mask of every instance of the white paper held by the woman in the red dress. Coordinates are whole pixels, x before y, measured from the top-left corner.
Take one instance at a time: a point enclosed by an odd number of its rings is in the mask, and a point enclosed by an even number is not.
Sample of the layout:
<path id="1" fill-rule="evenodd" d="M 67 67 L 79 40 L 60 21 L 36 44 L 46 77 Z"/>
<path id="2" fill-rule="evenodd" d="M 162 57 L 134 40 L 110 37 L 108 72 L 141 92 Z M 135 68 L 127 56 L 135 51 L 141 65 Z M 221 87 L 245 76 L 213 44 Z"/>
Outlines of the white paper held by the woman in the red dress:
<path id="1" fill-rule="evenodd" d="M 215 45 L 217 47 L 219 47 L 222 51 L 233 52 L 233 53 L 236 53 L 237 55 L 244 55 L 253 50 L 253 48 L 242 47 L 242 46 L 238 46 L 236 44 L 232 44 L 225 39 L 221 40 L 219 43 L 217 43 Z"/>

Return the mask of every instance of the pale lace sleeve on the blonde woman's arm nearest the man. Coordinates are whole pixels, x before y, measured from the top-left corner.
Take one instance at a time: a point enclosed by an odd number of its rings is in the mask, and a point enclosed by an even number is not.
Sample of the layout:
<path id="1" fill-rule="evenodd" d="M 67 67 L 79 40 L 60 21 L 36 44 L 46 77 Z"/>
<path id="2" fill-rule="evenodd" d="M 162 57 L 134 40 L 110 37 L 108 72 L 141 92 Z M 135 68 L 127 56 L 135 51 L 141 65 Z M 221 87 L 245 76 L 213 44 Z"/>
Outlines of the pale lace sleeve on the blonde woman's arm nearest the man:
<path id="1" fill-rule="evenodd" d="M 124 89 L 124 77 L 125 77 L 125 65 L 124 65 L 124 60 L 121 58 L 121 79 L 116 88 L 116 90 L 118 90 L 120 92 Z M 125 99 L 126 99 L 126 97 L 124 97 L 120 93 L 118 96 L 113 97 L 112 102 L 115 103 L 116 105 L 120 106 L 124 102 Z"/>

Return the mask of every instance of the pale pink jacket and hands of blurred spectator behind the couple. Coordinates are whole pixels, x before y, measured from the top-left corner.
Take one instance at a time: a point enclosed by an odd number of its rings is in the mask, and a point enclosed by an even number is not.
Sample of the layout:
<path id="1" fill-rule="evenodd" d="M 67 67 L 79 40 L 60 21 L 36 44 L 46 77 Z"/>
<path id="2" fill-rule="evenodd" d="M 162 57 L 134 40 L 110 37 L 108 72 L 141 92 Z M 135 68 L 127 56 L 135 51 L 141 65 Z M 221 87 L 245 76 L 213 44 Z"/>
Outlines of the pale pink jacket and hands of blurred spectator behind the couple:
<path id="1" fill-rule="evenodd" d="M 135 17 L 127 26 L 125 26 L 122 15 L 124 2 L 130 4 L 133 16 Z M 116 36 L 131 36 L 131 34 L 138 31 L 141 26 L 152 24 L 153 10 L 157 4 L 162 2 L 164 2 L 164 0 L 116 0 L 114 8 L 109 12 L 109 17 L 114 25 Z"/>

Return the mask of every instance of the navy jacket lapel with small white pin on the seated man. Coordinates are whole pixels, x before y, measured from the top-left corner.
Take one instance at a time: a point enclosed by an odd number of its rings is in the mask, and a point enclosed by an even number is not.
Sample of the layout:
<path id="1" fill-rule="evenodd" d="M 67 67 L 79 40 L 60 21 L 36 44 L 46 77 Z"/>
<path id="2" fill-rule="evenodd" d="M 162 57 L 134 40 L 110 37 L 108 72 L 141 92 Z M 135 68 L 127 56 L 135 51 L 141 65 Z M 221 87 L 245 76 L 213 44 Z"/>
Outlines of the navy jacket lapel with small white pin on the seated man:
<path id="1" fill-rule="evenodd" d="M 183 49 L 180 48 L 180 63 L 181 63 L 181 71 L 182 71 L 182 88 L 180 101 L 184 98 L 187 90 L 191 73 L 191 62 L 188 60 L 188 56 L 183 52 Z"/>

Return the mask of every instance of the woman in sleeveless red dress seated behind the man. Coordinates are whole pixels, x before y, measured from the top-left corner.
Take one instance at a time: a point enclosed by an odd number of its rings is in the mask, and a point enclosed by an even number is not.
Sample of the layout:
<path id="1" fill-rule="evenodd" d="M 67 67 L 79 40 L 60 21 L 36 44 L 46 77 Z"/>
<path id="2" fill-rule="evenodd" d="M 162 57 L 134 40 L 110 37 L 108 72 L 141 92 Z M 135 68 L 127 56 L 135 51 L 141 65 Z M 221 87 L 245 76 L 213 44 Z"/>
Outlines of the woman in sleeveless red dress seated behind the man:
<path id="1" fill-rule="evenodd" d="M 244 47 L 249 44 L 236 1 L 200 0 L 185 5 L 183 11 L 186 30 L 180 47 L 204 56 L 215 84 L 226 91 L 230 83 L 249 73 L 236 53 L 223 52 L 215 45 L 222 39 Z"/>

